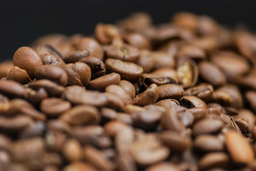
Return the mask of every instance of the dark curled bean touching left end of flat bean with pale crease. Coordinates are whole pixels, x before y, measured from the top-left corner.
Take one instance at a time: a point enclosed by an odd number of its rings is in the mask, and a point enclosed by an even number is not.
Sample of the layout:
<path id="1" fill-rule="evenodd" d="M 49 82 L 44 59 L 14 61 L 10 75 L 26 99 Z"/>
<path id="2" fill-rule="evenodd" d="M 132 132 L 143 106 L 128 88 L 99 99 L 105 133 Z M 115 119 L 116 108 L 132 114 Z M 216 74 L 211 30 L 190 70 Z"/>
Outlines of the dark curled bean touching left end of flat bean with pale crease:
<path id="1" fill-rule="evenodd" d="M 93 56 L 84 57 L 83 59 L 79 60 L 79 62 L 85 63 L 91 68 L 92 78 L 101 77 L 106 73 L 105 64 L 97 57 L 93 57 Z"/>

